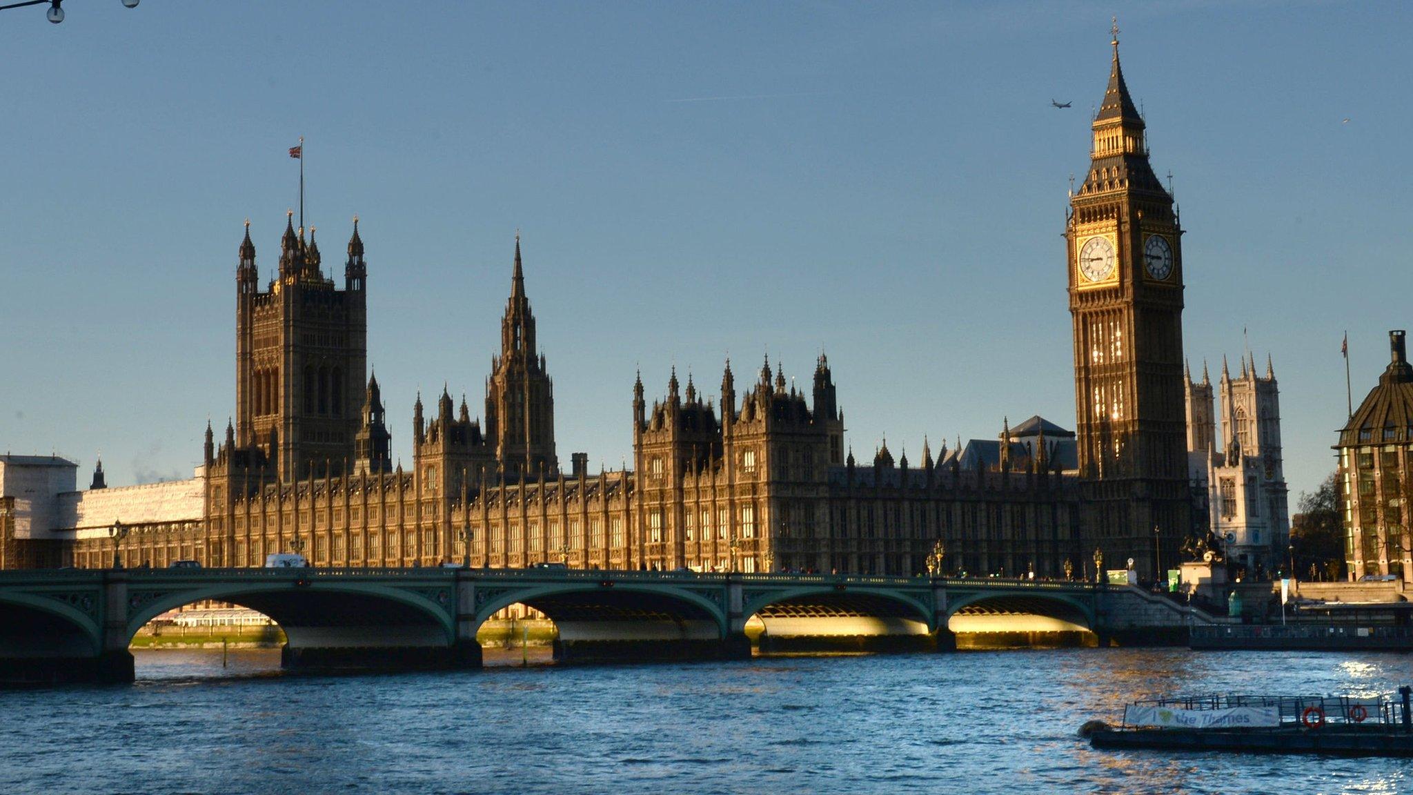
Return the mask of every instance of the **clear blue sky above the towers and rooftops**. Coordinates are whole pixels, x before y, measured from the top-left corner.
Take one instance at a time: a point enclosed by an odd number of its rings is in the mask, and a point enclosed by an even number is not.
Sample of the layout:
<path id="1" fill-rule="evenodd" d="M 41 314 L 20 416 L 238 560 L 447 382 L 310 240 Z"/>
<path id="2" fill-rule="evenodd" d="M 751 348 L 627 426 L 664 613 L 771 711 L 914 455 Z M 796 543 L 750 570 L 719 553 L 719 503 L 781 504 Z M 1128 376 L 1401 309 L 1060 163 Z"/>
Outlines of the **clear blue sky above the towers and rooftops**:
<path id="1" fill-rule="evenodd" d="M 636 366 L 715 395 L 767 349 L 801 383 L 828 352 L 862 455 L 1074 427 L 1060 235 L 1111 14 L 1187 355 L 1270 352 L 1293 502 L 1332 468 L 1344 330 L 1358 402 L 1410 321 L 1399 3 L 65 7 L 0 11 L 0 450 L 114 484 L 188 475 L 233 412 L 242 221 L 264 280 L 301 134 L 326 260 L 362 218 L 404 463 L 418 388 L 479 413 L 517 228 L 562 460 L 629 455 Z"/>

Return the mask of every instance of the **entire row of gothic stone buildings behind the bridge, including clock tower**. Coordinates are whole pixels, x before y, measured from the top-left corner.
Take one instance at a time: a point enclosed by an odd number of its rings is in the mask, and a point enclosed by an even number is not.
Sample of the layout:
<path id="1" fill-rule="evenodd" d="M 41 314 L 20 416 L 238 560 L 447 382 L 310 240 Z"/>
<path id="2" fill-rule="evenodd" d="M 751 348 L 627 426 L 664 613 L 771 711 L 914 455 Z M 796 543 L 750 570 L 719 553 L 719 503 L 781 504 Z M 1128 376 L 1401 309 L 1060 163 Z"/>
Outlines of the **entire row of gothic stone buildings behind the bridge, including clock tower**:
<path id="1" fill-rule="evenodd" d="M 592 472 L 582 453 L 564 465 L 517 235 L 480 416 L 445 390 L 418 396 L 404 470 L 367 372 L 376 262 L 357 219 L 342 286 L 292 218 L 261 284 L 247 222 L 236 413 L 223 433 L 208 426 L 196 477 L 106 488 L 99 464 L 78 489 L 64 458 L 0 457 L 0 567 L 261 566 L 298 552 L 314 566 L 916 574 L 937 552 L 947 573 L 1092 577 L 1133 559 L 1150 579 L 1212 530 L 1270 564 L 1287 532 L 1275 375 L 1246 358 L 1239 379 L 1224 368 L 1218 444 L 1210 379 L 1186 371 L 1183 229 L 1116 38 L 1064 229 L 1074 431 L 1036 416 L 935 455 L 924 443 L 917 461 L 886 440 L 856 460 L 824 355 L 808 392 L 781 362 L 728 361 L 715 399 L 675 371 L 651 400 L 632 385 L 630 467 Z"/>

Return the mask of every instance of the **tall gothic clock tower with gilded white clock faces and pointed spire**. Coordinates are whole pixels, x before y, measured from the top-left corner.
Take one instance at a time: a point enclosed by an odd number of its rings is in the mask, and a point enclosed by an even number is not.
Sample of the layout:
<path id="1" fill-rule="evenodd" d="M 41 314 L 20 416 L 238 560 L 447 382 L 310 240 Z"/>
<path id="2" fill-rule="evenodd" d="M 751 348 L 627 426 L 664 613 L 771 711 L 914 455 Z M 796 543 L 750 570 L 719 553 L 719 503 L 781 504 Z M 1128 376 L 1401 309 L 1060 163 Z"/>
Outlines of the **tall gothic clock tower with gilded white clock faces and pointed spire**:
<path id="1" fill-rule="evenodd" d="M 1065 242 L 1087 543 L 1143 579 L 1174 567 L 1190 530 L 1183 392 L 1183 250 L 1143 117 L 1113 65 Z"/>

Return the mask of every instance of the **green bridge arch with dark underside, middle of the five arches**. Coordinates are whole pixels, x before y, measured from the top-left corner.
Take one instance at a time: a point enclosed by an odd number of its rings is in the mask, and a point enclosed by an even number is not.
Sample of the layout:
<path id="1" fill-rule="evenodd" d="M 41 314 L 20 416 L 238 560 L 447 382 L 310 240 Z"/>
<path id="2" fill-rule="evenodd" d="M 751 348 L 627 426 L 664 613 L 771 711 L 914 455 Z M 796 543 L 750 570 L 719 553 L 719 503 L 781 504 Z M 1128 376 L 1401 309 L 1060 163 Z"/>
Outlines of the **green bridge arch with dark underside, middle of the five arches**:
<path id="1" fill-rule="evenodd" d="M 593 659 L 701 658 L 725 654 L 731 627 L 719 588 L 698 590 L 589 580 L 495 588 L 478 586 L 479 628 L 512 605 L 533 607 L 554 621 L 558 662 Z"/>

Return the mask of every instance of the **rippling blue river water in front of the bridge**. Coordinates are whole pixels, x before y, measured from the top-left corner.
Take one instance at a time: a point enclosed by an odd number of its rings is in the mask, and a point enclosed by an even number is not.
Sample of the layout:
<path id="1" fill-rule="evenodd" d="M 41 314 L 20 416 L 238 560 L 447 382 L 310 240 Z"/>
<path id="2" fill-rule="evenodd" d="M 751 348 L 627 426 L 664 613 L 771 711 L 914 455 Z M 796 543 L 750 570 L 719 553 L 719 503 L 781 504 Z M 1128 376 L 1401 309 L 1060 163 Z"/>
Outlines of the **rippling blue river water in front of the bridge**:
<path id="1" fill-rule="evenodd" d="M 1413 792 L 1413 761 L 1104 753 L 1126 700 L 1361 693 L 1413 658 L 1057 649 L 281 676 L 138 652 L 138 682 L 0 692 L 0 792 Z M 519 662 L 519 655 L 516 656 Z"/>

